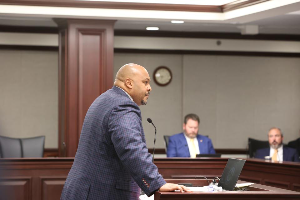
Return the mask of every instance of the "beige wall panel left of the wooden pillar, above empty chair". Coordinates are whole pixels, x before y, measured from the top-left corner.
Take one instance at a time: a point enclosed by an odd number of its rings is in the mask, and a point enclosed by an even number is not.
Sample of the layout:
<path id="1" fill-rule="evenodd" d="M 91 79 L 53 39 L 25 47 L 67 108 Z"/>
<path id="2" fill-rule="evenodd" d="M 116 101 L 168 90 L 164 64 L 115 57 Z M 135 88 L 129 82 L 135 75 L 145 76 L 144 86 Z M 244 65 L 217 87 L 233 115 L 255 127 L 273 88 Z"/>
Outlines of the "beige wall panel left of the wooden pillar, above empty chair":
<path id="1" fill-rule="evenodd" d="M 58 147 L 58 53 L 0 50 L 0 135 Z"/>

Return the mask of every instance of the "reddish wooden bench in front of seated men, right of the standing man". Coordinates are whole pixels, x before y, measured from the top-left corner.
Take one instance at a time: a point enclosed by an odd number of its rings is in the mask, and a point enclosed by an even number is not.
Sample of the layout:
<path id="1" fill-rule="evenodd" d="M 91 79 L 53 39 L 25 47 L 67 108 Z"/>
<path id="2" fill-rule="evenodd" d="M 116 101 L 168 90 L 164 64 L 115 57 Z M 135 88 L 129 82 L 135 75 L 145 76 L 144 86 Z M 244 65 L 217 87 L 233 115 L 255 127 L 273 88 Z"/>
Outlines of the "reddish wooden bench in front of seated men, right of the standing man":
<path id="1" fill-rule="evenodd" d="M 163 178 L 221 177 L 228 158 L 157 158 Z M 248 158 L 239 180 L 300 192 L 300 163 Z"/>

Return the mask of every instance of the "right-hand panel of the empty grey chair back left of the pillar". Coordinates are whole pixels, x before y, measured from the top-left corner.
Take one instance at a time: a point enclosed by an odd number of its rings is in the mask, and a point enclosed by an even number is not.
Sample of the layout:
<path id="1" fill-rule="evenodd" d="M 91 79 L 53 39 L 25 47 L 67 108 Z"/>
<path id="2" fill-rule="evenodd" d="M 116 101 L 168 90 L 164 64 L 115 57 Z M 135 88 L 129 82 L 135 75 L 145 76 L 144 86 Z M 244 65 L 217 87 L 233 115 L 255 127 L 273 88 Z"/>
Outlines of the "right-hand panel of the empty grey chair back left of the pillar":
<path id="1" fill-rule="evenodd" d="M 22 138 L 23 158 L 41 158 L 44 154 L 45 136 Z"/>

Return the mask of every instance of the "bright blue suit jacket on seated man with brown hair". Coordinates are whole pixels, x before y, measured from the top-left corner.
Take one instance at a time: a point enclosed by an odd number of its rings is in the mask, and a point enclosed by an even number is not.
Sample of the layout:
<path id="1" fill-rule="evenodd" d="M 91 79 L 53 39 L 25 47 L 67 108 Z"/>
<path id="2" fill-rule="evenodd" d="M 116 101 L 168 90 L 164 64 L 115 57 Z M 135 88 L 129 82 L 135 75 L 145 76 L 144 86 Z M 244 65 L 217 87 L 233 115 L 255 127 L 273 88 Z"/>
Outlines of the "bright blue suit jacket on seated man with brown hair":
<path id="1" fill-rule="evenodd" d="M 212 146 L 211 139 L 203 135 L 197 135 L 197 140 L 199 143 L 200 153 L 216 153 Z M 169 138 L 167 157 L 191 157 L 187 146 L 187 140 L 184 137 L 184 133 L 178 133 Z"/>

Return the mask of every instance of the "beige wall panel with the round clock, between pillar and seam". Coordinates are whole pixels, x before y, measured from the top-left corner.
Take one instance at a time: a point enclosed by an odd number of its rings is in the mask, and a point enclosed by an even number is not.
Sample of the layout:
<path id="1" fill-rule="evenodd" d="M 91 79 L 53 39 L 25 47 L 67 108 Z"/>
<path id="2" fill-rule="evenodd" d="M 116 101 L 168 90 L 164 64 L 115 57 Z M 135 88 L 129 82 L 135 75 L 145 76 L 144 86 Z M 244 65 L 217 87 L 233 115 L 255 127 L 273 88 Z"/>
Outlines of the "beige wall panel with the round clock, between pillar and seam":
<path id="1" fill-rule="evenodd" d="M 127 63 L 137 63 L 147 68 L 152 91 L 145 106 L 140 106 L 143 128 L 148 148 L 153 148 L 155 130 L 147 118 L 153 120 L 157 128 L 156 148 L 164 148 L 163 135 L 179 133 L 182 128 L 182 56 L 171 54 L 127 54 L 115 53 L 114 76 Z M 159 87 L 153 81 L 153 72 L 158 66 L 168 66 L 173 73 L 172 82 L 167 87 Z"/>

